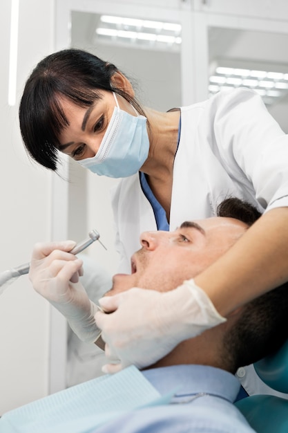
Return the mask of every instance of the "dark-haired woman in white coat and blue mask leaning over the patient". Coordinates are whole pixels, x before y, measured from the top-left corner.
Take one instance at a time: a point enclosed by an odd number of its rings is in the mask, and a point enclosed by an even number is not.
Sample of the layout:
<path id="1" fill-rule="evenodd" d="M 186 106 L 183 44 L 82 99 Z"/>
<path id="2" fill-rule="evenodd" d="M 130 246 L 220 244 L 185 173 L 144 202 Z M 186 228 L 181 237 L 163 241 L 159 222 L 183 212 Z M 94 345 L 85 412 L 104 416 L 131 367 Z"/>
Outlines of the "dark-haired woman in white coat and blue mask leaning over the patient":
<path id="1" fill-rule="evenodd" d="M 288 137 L 256 92 L 220 91 L 166 113 L 143 109 L 116 66 L 70 49 L 32 71 L 19 120 L 28 153 L 44 167 L 56 170 L 60 151 L 96 174 L 123 178 L 113 196 L 123 272 L 131 272 L 141 232 L 213 216 L 228 196 L 263 212 L 226 255 L 169 295 L 134 288 L 99 300 L 113 311 L 95 316 L 106 371 L 151 365 L 288 280 Z M 193 239 L 179 239 L 180 248 L 186 242 Z"/>

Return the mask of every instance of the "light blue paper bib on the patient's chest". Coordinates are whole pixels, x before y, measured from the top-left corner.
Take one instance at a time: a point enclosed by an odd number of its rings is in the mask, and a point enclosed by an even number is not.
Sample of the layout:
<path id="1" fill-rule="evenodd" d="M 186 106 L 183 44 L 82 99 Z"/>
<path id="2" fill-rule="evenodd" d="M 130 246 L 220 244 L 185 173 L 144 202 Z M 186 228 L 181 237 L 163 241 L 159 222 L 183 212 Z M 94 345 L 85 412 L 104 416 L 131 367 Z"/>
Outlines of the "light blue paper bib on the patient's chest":
<path id="1" fill-rule="evenodd" d="M 86 433 L 133 409 L 169 403 L 136 367 L 107 374 L 7 412 L 5 433 Z"/>

